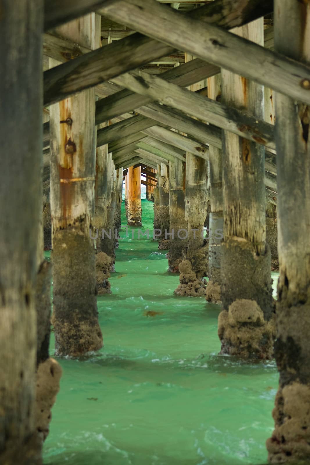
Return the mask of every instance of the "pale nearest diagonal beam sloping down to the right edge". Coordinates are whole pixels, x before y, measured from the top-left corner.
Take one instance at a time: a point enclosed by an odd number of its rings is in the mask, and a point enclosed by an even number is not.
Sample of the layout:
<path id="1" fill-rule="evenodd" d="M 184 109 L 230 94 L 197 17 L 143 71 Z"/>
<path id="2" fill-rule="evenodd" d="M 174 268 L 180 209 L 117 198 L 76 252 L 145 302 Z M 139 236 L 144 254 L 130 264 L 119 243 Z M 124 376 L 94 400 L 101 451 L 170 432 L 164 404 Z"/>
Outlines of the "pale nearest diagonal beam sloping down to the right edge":
<path id="1" fill-rule="evenodd" d="M 302 62 L 271 52 L 221 27 L 185 16 L 155 0 L 118 0 L 100 12 L 202 60 L 310 104 L 310 66 Z"/>

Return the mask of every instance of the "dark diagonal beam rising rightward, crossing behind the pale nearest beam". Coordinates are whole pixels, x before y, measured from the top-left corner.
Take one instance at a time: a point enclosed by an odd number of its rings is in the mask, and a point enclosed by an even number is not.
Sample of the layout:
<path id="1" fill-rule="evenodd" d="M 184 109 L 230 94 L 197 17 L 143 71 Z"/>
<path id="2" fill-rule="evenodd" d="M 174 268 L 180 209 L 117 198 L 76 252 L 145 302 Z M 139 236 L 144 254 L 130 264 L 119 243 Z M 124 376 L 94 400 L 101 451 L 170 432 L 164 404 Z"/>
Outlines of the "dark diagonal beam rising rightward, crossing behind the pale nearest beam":
<path id="1" fill-rule="evenodd" d="M 61 0 L 57 1 L 60 3 Z M 87 2 L 88 0 L 83 1 Z M 244 0 L 238 0 L 237 2 L 233 2 L 232 0 L 229 1 L 231 4 L 234 3 L 233 12 L 228 11 L 227 5 L 225 5 L 227 0 L 218 0 L 214 2 L 216 4 L 215 6 L 209 4 L 205 7 L 192 10 L 186 17 L 200 18 L 199 22 L 203 25 L 204 23 L 202 20 L 205 20 L 213 23 L 220 22 L 221 27 L 234 27 L 240 25 L 240 23 L 244 24 L 244 22 L 252 20 L 253 15 L 257 16 L 257 14 L 265 14 L 266 11 L 270 12 L 270 3 L 272 3 L 270 0 L 264 0 L 263 2 L 255 0 L 248 5 L 244 12 Z M 72 0 L 69 0 L 69 4 L 71 3 L 73 4 Z M 100 10 L 103 15 L 106 15 L 106 8 L 108 8 L 111 3 L 111 1 L 106 0 L 106 7 Z M 264 5 L 262 5 L 262 3 L 264 3 Z M 52 7 L 52 4 L 52 1 L 49 0 L 48 5 Z M 119 2 L 114 1 L 113 5 L 114 4 L 118 5 Z M 120 6 L 123 8 L 125 5 L 126 2 Z M 132 7 L 132 5 L 128 6 Z M 158 7 L 164 8 L 165 10 L 168 9 L 161 5 L 158 5 Z M 55 11 L 56 10 L 57 8 L 55 8 Z M 181 13 L 174 11 L 172 8 L 169 8 L 169 10 L 182 18 Z M 197 13 L 198 11 L 199 13 Z M 186 18 L 184 17 L 184 19 Z M 157 40 L 141 36 L 139 33 L 115 41 L 110 44 L 109 47 L 109 50 L 102 47 L 101 49 L 76 58 L 75 60 L 71 60 L 68 63 L 56 66 L 52 70 L 45 71 L 45 105 L 51 105 L 73 93 L 95 86 L 100 82 L 111 79 L 113 76 L 125 73 L 130 69 L 142 66 L 156 58 L 169 55 L 175 51 L 175 46 L 166 46 Z M 103 49 L 105 49 L 104 52 L 102 52 Z M 108 53 L 107 57 L 106 53 Z"/>

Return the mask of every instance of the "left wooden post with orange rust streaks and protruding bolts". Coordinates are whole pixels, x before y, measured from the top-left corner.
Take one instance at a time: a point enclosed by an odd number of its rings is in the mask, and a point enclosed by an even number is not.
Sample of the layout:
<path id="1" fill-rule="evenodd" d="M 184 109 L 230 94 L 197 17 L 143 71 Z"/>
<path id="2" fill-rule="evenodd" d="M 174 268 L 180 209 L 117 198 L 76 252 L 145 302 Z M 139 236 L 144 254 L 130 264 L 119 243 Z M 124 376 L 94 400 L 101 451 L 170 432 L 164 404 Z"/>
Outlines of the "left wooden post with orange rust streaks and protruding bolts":
<path id="1" fill-rule="evenodd" d="M 95 14 L 57 32 L 95 48 Z M 93 88 L 50 107 L 50 140 L 56 353 L 78 356 L 102 347 L 91 238 L 96 164 Z"/>

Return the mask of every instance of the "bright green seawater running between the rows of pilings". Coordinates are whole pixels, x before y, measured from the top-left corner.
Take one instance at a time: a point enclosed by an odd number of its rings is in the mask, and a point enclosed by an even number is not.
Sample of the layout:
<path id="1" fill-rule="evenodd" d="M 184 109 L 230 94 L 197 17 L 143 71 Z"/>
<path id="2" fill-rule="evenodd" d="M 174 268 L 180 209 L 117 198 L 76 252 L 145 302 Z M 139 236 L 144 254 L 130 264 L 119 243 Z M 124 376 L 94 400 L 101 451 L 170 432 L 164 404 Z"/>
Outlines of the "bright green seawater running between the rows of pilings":
<path id="1" fill-rule="evenodd" d="M 112 294 L 98 298 L 104 348 L 58 359 L 63 376 L 44 463 L 266 463 L 276 365 L 218 355 L 220 307 L 173 295 L 178 276 L 166 272 L 165 251 L 151 239 L 153 204 L 142 200 L 142 208 L 150 239 L 122 229 Z"/>

